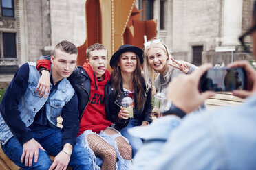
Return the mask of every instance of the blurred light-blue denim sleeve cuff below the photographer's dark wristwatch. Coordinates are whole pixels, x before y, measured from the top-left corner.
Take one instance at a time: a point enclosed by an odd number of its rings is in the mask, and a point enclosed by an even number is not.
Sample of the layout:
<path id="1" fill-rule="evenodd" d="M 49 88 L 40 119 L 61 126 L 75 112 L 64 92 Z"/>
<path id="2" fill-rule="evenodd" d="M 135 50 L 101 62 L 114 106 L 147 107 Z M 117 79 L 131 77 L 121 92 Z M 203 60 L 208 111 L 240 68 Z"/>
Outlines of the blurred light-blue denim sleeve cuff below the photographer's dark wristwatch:
<path id="1" fill-rule="evenodd" d="M 132 169 L 147 169 L 152 158 L 160 155 L 162 146 L 171 132 L 180 125 L 180 120 L 180 117 L 169 115 L 156 119 L 150 125 L 137 126 L 128 130 L 131 135 L 144 140 L 143 147 L 136 153 Z"/>

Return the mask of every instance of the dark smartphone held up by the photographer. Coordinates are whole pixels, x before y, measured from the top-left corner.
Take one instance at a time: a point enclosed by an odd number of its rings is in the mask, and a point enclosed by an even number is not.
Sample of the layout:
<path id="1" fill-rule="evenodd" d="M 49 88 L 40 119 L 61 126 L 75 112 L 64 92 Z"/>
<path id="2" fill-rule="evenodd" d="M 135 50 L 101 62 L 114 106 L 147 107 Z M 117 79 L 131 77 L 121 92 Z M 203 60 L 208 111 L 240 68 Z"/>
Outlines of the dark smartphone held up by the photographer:
<path id="1" fill-rule="evenodd" d="M 246 90 L 247 77 L 243 68 L 209 69 L 199 82 L 200 92 Z"/>

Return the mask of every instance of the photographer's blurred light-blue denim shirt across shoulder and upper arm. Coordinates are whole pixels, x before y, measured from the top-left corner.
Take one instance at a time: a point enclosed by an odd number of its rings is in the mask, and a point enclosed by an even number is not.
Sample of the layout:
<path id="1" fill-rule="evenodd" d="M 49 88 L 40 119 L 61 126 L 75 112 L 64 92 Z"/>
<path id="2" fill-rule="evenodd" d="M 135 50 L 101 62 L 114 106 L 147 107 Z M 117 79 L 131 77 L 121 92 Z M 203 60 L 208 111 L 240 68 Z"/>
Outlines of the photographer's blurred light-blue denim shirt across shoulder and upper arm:
<path id="1" fill-rule="evenodd" d="M 161 147 L 154 157 L 147 145 L 138 151 L 134 169 L 255 169 L 256 94 L 240 106 L 189 114 L 166 135 L 164 145 L 152 141 Z"/>

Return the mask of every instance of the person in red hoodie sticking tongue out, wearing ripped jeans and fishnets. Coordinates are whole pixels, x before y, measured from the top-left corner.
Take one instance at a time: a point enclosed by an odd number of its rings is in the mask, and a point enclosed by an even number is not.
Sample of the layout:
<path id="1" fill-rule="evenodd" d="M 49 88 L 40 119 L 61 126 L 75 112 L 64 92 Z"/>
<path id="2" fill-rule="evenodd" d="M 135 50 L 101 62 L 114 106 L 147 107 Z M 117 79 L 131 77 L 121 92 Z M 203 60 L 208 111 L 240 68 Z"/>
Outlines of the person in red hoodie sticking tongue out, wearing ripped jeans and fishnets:
<path id="1" fill-rule="evenodd" d="M 111 126 L 107 106 L 108 99 L 105 86 L 110 80 L 107 71 L 107 49 L 101 44 L 94 44 L 86 51 L 87 63 L 78 66 L 68 77 L 78 95 L 78 110 L 80 113 L 80 127 L 77 142 L 89 151 L 92 169 L 129 169 L 131 167 L 131 145 L 120 132 Z M 37 61 L 37 68 L 42 77 L 36 90 L 41 96 L 45 88 L 49 88 L 50 80 L 49 56 L 41 56 Z M 46 71 L 45 71 L 46 70 Z M 48 71 L 47 71 L 48 70 Z M 47 90 L 45 90 L 47 96 Z M 99 156 L 100 158 L 96 158 Z"/>

